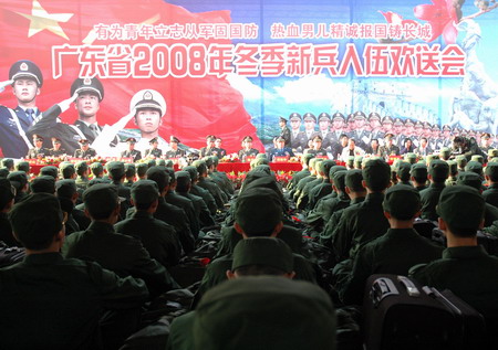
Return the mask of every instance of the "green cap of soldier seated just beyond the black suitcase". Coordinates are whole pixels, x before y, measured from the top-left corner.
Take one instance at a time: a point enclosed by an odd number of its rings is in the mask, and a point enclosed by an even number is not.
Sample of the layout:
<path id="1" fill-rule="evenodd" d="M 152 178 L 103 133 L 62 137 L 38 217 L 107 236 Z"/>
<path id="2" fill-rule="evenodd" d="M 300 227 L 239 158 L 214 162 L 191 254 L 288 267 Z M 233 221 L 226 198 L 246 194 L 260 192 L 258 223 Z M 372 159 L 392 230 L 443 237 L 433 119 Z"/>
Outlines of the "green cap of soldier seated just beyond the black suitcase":
<path id="1" fill-rule="evenodd" d="M 382 206 L 397 220 L 411 220 L 421 210 L 421 194 L 413 187 L 400 183 L 385 191 Z"/>

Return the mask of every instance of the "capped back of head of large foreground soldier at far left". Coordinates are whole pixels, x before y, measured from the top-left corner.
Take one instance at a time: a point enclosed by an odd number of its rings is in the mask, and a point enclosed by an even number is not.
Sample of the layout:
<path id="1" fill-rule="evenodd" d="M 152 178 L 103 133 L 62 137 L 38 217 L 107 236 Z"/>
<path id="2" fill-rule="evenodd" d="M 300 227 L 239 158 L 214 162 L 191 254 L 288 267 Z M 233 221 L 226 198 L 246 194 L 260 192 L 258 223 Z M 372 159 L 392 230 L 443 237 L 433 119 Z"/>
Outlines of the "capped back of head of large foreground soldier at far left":
<path id="1" fill-rule="evenodd" d="M 9 213 L 12 231 L 28 250 L 48 248 L 62 230 L 62 211 L 55 195 L 34 193 L 17 203 Z"/>

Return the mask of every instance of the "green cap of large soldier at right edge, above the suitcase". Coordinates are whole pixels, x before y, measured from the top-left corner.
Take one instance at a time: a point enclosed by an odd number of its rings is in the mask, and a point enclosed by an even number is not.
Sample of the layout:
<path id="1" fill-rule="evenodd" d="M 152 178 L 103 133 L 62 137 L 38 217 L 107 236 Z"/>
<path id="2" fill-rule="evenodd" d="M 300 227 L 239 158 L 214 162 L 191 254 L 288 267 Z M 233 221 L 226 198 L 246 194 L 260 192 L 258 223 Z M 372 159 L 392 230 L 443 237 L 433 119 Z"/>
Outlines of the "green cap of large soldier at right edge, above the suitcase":
<path id="1" fill-rule="evenodd" d="M 483 222 L 485 205 L 478 190 L 456 184 L 442 191 L 436 211 L 450 227 L 477 230 Z"/>

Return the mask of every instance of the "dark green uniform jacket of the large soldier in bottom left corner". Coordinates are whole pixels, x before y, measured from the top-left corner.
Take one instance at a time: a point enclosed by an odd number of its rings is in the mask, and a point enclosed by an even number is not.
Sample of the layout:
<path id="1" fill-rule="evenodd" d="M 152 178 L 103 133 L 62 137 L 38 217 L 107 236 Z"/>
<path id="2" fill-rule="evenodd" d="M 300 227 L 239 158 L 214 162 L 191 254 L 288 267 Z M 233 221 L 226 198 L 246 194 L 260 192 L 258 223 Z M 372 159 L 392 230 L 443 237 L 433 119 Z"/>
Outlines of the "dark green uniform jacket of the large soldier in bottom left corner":
<path id="1" fill-rule="evenodd" d="M 2 349 L 97 349 L 103 310 L 139 307 L 148 295 L 141 279 L 59 253 L 0 269 L 0 283 Z"/>

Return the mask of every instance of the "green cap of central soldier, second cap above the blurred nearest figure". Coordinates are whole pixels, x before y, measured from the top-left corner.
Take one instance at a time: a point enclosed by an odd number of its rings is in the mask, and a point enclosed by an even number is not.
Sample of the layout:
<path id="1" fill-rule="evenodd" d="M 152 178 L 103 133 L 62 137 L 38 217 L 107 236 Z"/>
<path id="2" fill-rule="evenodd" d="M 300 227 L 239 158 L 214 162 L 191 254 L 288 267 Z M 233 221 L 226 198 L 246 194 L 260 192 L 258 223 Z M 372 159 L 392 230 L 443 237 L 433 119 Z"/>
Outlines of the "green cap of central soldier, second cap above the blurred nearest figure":
<path id="1" fill-rule="evenodd" d="M 282 202 L 268 188 L 249 188 L 237 198 L 235 221 L 251 236 L 269 236 L 282 221 Z"/>

